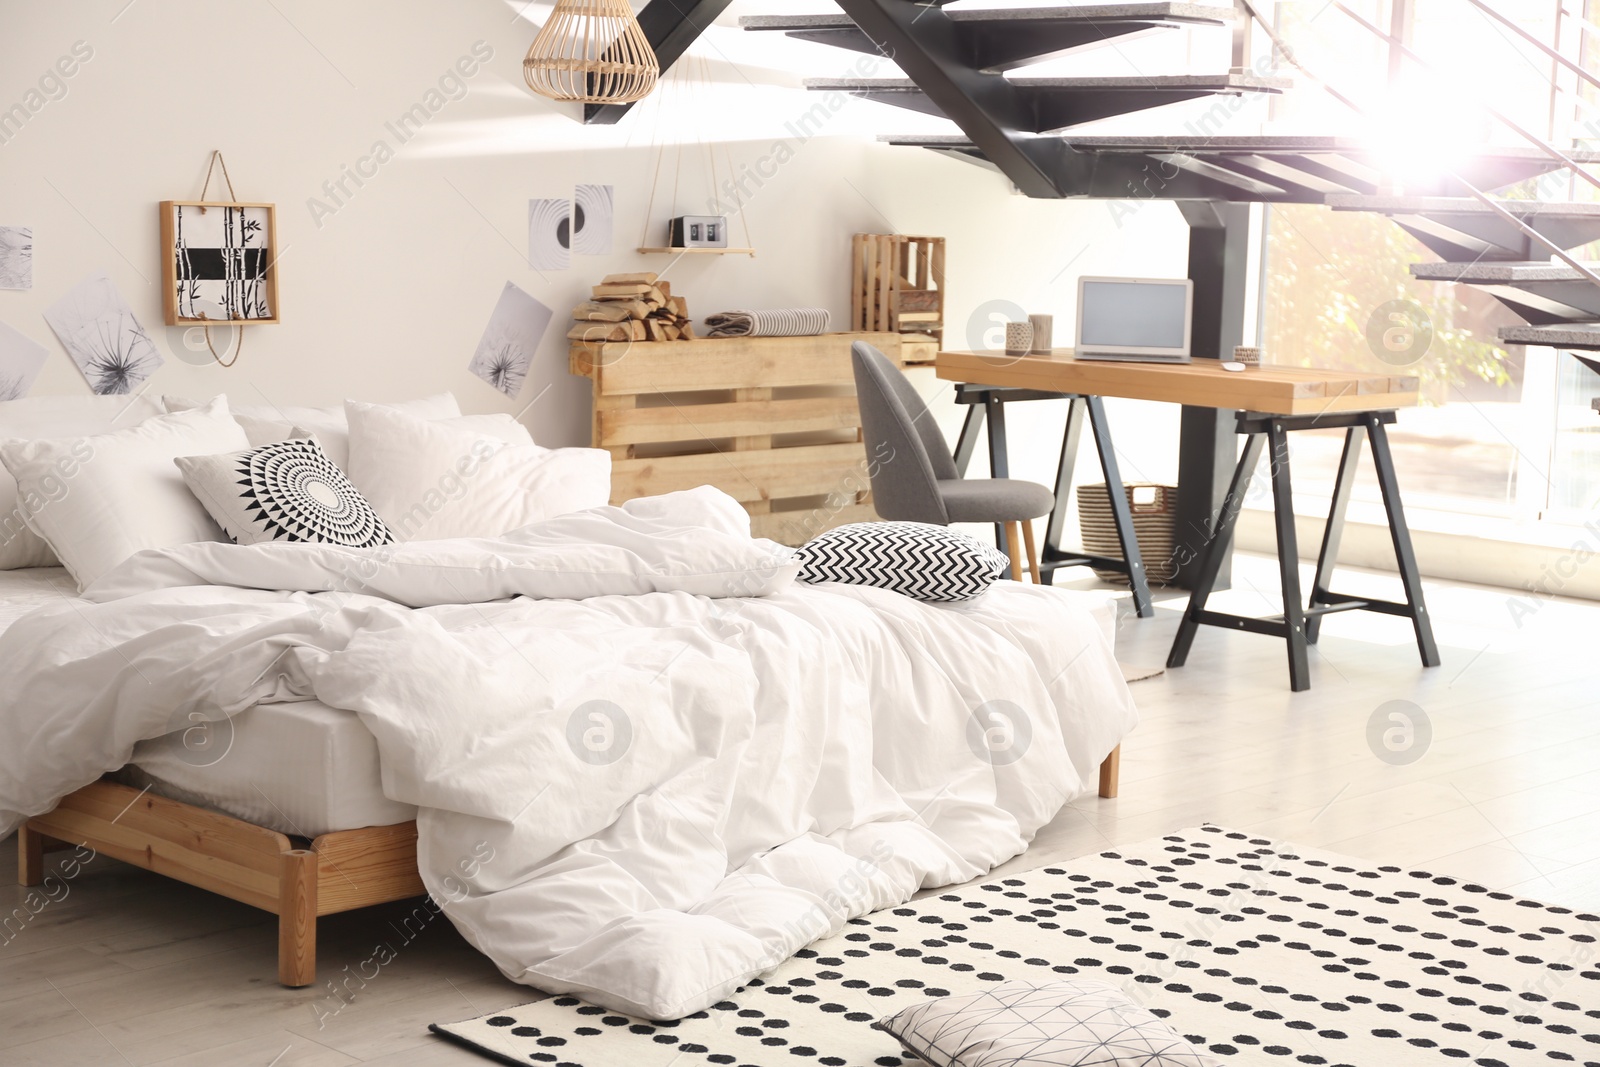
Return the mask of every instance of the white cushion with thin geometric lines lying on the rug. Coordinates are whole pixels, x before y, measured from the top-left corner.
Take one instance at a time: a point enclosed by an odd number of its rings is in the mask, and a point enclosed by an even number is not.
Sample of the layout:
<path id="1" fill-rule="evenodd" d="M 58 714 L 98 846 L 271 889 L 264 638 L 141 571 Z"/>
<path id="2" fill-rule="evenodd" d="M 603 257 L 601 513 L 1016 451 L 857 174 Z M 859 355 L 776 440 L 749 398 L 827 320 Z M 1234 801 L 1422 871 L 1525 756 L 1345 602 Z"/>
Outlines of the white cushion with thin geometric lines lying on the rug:
<path id="1" fill-rule="evenodd" d="M 1219 1067 L 1106 982 L 1003 982 L 872 1024 L 934 1067 Z"/>

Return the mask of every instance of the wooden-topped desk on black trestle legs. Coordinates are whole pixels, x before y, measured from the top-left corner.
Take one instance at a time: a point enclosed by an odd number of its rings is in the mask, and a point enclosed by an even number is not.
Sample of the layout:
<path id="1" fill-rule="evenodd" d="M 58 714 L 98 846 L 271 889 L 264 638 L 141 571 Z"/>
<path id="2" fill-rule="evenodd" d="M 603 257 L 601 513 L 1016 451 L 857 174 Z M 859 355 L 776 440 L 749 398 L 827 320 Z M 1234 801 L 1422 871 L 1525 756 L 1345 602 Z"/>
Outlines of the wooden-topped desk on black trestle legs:
<path id="1" fill-rule="evenodd" d="M 1101 453 L 1101 469 L 1109 486 L 1122 485 L 1117 475 L 1115 450 L 1110 427 L 1106 421 L 1102 397 L 1126 400 L 1157 400 L 1189 406 L 1210 406 L 1238 411 L 1237 432 L 1245 437 L 1245 448 L 1234 470 L 1222 506 L 1203 520 L 1179 517 L 1178 552 L 1190 553 L 1200 561 L 1184 621 L 1178 629 L 1168 667 L 1181 667 L 1189 657 L 1195 633 L 1202 625 L 1246 630 L 1280 637 L 1288 648 L 1290 688 L 1310 688 L 1307 646 L 1317 643 L 1322 616 L 1333 611 L 1378 611 L 1411 619 L 1416 630 L 1418 651 L 1422 665 L 1438 665 L 1438 648 L 1434 643 L 1434 627 L 1422 598 L 1416 553 L 1400 502 L 1400 486 L 1395 478 L 1394 456 L 1389 451 L 1386 427 L 1395 421 L 1395 410 L 1414 406 L 1419 382 L 1402 374 L 1360 374 L 1350 371 L 1320 371 L 1286 366 L 1262 366 L 1246 371 L 1224 371 L 1216 360 L 1194 363 L 1115 363 L 1077 360 L 1070 349 L 1058 349 L 1048 355 L 1005 355 L 997 352 L 941 352 L 936 360 L 939 378 L 957 384 L 957 400 L 974 405 L 968 414 L 962 442 L 957 446 L 958 462 L 971 458 L 979 421 L 989 421 L 990 464 L 995 477 L 1006 477 L 1005 456 L 1005 402 L 1059 397 L 1069 400 L 1066 440 L 1061 448 L 1061 464 L 1056 470 L 1056 507 L 1050 515 L 1050 531 L 1045 536 L 1043 566 L 1102 566 L 1104 561 L 1083 553 L 1061 549 L 1062 526 L 1070 506 L 1072 467 L 1077 454 L 1083 414 L 1094 432 Z M 976 406 L 982 405 L 982 408 Z M 979 416 L 979 411 L 984 414 Z M 1328 509 L 1328 525 L 1323 533 L 1317 561 L 1317 576 L 1309 603 L 1301 603 L 1299 545 L 1294 531 L 1294 502 L 1290 488 L 1288 434 L 1309 429 L 1346 430 L 1344 454 L 1334 482 L 1333 504 Z M 1355 483 L 1363 443 L 1371 442 L 1373 466 L 1384 496 L 1389 531 L 1394 539 L 1403 601 L 1357 598 L 1330 590 L 1333 569 L 1338 563 L 1339 539 L 1344 517 Z M 1261 458 L 1262 446 L 1270 446 L 1272 498 L 1278 541 L 1278 573 L 1283 582 L 1283 614 L 1253 619 L 1221 611 L 1208 611 L 1206 600 L 1218 582 L 1222 563 L 1234 541 L 1238 512 L 1245 504 L 1245 491 Z M 1134 606 L 1141 616 L 1149 616 L 1149 589 L 1144 581 L 1144 561 L 1133 520 L 1122 493 L 1110 493 L 1112 517 L 1123 547 L 1123 569 L 1133 585 Z M 1189 544 L 1187 528 L 1198 534 L 1198 544 Z"/>

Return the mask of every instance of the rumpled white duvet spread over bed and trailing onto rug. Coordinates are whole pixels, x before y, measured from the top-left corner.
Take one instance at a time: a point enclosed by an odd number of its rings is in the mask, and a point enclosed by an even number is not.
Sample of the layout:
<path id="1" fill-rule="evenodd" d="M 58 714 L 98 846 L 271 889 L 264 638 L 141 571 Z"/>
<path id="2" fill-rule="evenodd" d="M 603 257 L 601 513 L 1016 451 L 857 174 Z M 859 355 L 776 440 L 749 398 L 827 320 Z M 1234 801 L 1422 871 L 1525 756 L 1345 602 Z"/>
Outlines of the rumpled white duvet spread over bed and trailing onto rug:
<path id="1" fill-rule="evenodd" d="M 0 638 L 0 837 L 190 713 L 315 697 L 371 728 L 429 891 L 509 977 L 699 1011 L 1019 853 L 1136 718 L 1069 593 L 795 568 L 714 490 L 494 541 L 141 553 Z"/>

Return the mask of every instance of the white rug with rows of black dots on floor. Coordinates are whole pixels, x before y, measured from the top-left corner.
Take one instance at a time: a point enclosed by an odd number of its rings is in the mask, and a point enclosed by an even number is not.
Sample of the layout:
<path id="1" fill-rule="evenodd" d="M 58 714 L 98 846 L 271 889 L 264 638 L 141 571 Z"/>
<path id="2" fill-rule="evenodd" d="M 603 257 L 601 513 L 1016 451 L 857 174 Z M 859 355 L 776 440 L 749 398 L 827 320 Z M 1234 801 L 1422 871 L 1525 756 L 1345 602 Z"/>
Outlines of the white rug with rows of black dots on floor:
<path id="1" fill-rule="evenodd" d="M 854 920 L 678 1022 L 557 997 L 434 1030 L 509 1064 L 909 1067 L 872 1019 L 1083 974 L 1227 1062 L 1600 1067 L 1597 933 L 1451 877 L 1200 827 Z"/>

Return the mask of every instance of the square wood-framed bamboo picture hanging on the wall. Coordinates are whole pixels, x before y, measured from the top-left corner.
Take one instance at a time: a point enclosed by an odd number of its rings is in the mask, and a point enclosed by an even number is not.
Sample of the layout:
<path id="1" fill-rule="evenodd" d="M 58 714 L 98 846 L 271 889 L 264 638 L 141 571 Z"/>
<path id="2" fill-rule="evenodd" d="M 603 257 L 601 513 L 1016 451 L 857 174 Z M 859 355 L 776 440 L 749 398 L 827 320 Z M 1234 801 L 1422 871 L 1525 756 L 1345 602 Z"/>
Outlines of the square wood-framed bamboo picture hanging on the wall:
<path id="1" fill-rule="evenodd" d="M 168 326 L 278 322 L 277 208 L 162 202 L 162 307 Z"/>

